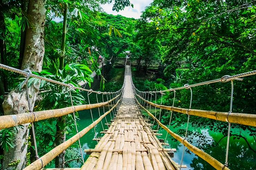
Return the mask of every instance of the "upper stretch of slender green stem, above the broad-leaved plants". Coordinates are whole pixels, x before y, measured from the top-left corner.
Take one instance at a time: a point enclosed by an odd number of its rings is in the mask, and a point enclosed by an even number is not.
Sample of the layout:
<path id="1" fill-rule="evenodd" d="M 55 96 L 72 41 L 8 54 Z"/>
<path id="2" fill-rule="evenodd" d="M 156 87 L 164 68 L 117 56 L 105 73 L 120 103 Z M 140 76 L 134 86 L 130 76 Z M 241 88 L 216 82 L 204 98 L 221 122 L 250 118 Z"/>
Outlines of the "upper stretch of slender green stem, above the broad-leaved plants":
<path id="1" fill-rule="evenodd" d="M 66 33 L 67 33 L 67 15 L 68 15 L 68 6 L 65 3 L 65 8 L 63 11 L 63 27 L 62 27 L 62 40 L 61 40 L 61 57 L 60 57 L 60 69 L 64 67 L 64 57 L 65 57 L 65 42 L 66 42 Z"/>

